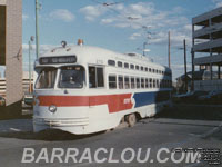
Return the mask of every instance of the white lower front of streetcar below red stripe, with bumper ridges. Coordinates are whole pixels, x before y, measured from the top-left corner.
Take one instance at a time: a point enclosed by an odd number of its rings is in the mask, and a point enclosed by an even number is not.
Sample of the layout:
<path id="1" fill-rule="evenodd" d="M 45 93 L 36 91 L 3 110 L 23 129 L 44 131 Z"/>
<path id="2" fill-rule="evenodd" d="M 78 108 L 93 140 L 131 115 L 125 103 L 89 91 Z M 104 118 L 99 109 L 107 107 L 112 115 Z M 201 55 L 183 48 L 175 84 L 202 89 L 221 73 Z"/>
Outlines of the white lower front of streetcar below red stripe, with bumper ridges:
<path id="1" fill-rule="evenodd" d="M 52 108 L 52 109 L 51 109 Z M 89 126 L 88 107 L 43 107 L 33 108 L 33 131 L 60 129 L 72 134 L 85 134 Z"/>

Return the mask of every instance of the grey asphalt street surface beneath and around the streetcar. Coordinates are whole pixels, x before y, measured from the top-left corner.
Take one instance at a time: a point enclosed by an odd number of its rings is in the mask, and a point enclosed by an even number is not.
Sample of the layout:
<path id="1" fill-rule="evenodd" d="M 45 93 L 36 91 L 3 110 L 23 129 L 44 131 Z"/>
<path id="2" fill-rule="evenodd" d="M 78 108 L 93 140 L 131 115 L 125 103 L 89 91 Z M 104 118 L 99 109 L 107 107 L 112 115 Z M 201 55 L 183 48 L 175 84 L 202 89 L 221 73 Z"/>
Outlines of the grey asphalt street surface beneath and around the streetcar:
<path id="1" fill-rule="evenodd" d="M 63 131 L 43 131 L 39 134 L 32 132 L 31 119 L 16 119 L 16 120 L 1 120 L 0 121 L 0 166 L 3 167 L 20 167 L 20 166 L 77 166 L 77 167 L 98 167 L 98 166 L 153 166 L 153 167 L 206 167 L 206 163 L 190 164 L 179 163 L 174 164 L 169 160 L 160 164 L 157 160 L 157 153 L 160 148 L 220 148 L 222 150 L 222 130 L 221 121 L 212 120 L 188 120 L 188 119 L 172 119 L 172 118 L 148 118 L 140 120 L 132 128 L 119 128 L 109 132 L 100 132 L 90 136 L 74 136 Z M 53 163 L 39 163 L 22 164 L 22 156 L 24 148 L 32 148 L 36 151 L 36 159 L 42 148 L 48 150 L 48 156 L 53 148 L 62 148 L 64 151 L 68 148 L 78 148 L 83 153 L 85 148 L 90 148 L 93 153 L 98 148 L 114 149 L 112 159 L 119 159 L 119 163 L 103 163 L 97 164 L 93 159 L 92 163 L 83 160 L 82 163 L 74 163 L 70 159 L 68 163 L 60 163 L 56 159 Z M 133 160 L 130 164 L 121 161 L 121 154 L 125 148 L 132 148 L 138 151 L 142 148 L 141 159 L 145 156 L 147 148 L 151 148 L 151 157 L 145 163 L 138 163 Z M 80 154 L 81 156 L 81 154 Z M 80 158 L 79 156 L 79 158 Z M 125 159 L 131 157 L 128 151 Z M 98 156 L 100 159 L 105 157 L 104 153 Z M 165 151 L 162 151 L 161 158 L 170 158 Z M 107 158 L 109 156 L 107 155 Z M 179 157 L 180 158 L 180 157 Z M 77 158 L 78 159 L 78 158 Z M 112 160 L 111 159 L 111 160 Z M 64 161 L 64 160 L 63 160 Z M 212 166 L 212 165 L 211 165 Z M 219 165 L 220 166 L 220 165 Z"/>

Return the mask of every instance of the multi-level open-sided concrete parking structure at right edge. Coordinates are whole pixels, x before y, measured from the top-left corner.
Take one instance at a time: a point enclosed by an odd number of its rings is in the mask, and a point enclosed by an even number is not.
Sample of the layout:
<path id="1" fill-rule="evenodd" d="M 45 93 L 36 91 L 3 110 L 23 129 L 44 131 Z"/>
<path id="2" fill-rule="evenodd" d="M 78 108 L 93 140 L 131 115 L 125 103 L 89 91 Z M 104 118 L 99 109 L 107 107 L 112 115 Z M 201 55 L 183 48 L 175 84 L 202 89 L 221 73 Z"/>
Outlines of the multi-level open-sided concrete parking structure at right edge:
<path id="1" fill-rule="evenodd" d="M 199 66 L 208 76 L 206 80 L 194 80 L 194 89 L 222 89 L 222 7 L 193 18 L 192 30 L 192 71 Z"/>

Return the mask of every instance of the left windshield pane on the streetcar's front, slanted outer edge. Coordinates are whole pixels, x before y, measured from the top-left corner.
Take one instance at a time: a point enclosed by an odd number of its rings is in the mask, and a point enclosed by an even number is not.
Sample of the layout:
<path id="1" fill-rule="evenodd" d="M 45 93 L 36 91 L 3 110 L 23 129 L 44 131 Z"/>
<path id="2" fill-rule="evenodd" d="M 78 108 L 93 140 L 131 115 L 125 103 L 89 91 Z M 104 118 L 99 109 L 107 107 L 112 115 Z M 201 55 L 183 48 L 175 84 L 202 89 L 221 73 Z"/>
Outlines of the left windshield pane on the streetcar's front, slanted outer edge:
<path id="1" fill-rule="evenodd" d="M 57 68 L 53 67 L 43 68 L 36 84 L 36 89 L 53 88 L 56 82 L 56 77 L 57 77 Z"/>

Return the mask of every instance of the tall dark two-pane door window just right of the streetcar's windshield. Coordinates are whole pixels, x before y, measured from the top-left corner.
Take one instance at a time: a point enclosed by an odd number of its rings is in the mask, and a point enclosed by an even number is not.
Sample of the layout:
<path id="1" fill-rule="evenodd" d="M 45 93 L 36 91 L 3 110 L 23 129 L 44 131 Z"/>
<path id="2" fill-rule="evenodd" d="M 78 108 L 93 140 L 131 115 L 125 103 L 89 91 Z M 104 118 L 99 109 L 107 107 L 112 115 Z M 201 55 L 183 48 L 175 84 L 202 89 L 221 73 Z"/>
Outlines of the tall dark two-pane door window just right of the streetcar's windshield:
<path id="1" fill-rule="evenodd" d="M 89 87 L 104 87 L 104 75 L 102 67 L 89 67 Z"/>

